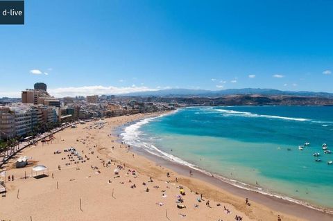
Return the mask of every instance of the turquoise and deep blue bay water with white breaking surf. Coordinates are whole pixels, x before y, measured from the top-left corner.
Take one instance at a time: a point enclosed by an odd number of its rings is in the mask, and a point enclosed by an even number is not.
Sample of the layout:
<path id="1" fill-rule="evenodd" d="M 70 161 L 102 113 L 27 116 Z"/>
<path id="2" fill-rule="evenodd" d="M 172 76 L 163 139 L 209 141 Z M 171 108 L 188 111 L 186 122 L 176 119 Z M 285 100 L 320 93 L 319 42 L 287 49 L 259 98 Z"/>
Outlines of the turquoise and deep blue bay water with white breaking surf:
<path id="1" fill-rule="evenodd" d="M 259 191 L 333 208 L 333 154 L 321 147 L 333 150 L 333 107 L 185 108 L 126 127 L 123 139 Z"/>

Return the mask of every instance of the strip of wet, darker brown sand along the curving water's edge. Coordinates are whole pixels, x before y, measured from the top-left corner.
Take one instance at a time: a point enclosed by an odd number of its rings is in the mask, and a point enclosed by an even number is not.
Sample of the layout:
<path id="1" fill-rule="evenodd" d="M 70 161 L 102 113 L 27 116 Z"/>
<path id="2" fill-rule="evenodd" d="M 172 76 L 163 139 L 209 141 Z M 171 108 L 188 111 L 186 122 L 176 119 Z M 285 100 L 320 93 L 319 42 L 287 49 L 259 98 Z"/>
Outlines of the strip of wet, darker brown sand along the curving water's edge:
<path id="1" fill-rule="evenodd" d="M 169 114 L 173 113 L 174 112 L 171 112 Z M 121 137 L 121 132 L 123 132 L 123 129 L 125 127 L 128 127 L 128 125 L 133 125 L 144 119 L 157 118 L 157 117 L 162 117 L 164 115 L 165 114 L 162 114 L 160 116 L 145 117 L 142 119 L 137 119 L 132 123 L 129 124 L 127 123 L 127 125 L 121 125 L 121 127 L 119 127 L 119 130 L 117 130 L 117 133 L 119 134 L 119 139 L 123 141 Z M 268 206 L 269 208 L 274 209 L 275 211 L 279 209 L 282 213 L 288 213 L 290 215 L 295 215 L 299 218 L 304 218 L 304 219 L 311 218 L 311 220 L 321 219 L 328 221 L 333 219 L 332 209 L 328 209 L 322 206 L 316 206 L 314 204 L 310 204 L 302 200 L 296 200 L 288 196 L 277 195 L 275 193 L 266 193 L 264 191 L 256 191 L 255 188 L 246 188 L 245 186 L 235 185 L 231 183 L 231 180 L 229 178 L 214 173 L 210 173 L 210 171 L 207 171 L 203 168 L 199 168 L 196 165 L 194 165 L 195 167 L 192 168 L 190 166 L 184 165 L 177 161 L 173 161 L 171 159 L 164 159 L 163 157 L 152 154 L 143 148 L 133 146 L 133 148 L 131 148 L 130 151 L 135 152 L 137 154 L 141 154 L 143 157 L 146 157 L 149 160 L 154 161 L 160 166 L 169 168 L 182 176 L 189 178 L 198 178 L 203 182 L 213 184 L 214 186 L 222 188 L 223 190 L 228 191 L 229 193 L 232 193 L 239 197 L 244 197 L 244 198 L 248 197 L 249 199 L 253 199 L 259 204 L 264 204 L 265 206 Z M 192 170 L 193 173 L 193 176 L 191 177 L 189 176 L 189 170 Z M 230 180 L 230 182 L 228 182 L 227 180 L 228 181 Z M 242 183 L 237 180 L 236 182 Z M 245 185 L 252 187 L 250 184 L 245 184 Z"/>

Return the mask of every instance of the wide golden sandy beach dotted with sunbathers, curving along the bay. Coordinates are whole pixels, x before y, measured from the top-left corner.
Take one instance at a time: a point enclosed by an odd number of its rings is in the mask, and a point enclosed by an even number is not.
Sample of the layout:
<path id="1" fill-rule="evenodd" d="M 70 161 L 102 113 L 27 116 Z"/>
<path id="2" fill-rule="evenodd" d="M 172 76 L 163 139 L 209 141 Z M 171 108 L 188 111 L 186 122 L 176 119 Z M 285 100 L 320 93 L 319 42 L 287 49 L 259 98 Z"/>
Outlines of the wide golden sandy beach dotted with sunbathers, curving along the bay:
<path id="1" fill-rule="evenodd" d="M 15 168 L 15 157 L 1 168 L 6 169 L 7 193 L 0 198 L 0 220 L 225 221 L 236 215 L 242 220 L 278 220 L 278 215 L 282 220 L 332 220 L 332 215 L 213 177 L 195 172 L 189 177 L 185 167 L 153 161 L 119 143 L 116 127 L 156 115 L 160 113 L 106 118 L 103 127 L 96 121 L 80 124 L 23 150 L 17 157 L 32 157 L 32 164 Z M 64 151 L 71 147 L 82 159 Z M 46 166 L 49 176 L 32 177 L 36 165 Z M 12 175 L 14 181 L 8 181 Z"/>

